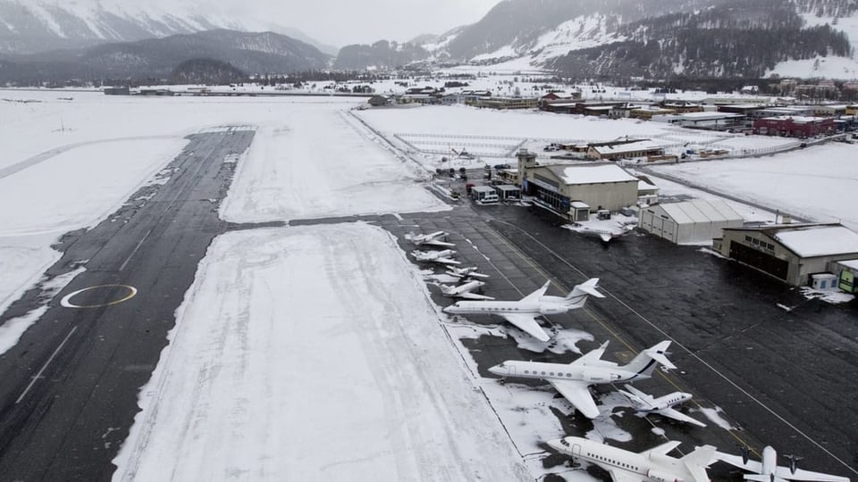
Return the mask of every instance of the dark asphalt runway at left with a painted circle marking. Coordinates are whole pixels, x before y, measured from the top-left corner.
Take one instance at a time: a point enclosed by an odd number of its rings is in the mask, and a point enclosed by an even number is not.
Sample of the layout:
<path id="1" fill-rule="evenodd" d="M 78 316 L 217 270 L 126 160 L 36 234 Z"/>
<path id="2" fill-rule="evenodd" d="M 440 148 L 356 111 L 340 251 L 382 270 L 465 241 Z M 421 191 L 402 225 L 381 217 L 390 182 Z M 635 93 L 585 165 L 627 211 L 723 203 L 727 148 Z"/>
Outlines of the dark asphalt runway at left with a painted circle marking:
<path id="1" fill-rule="evenodd" d="M 237 129 L 189 136 L 164 186 L 143 187 L 96 228 L 63 238 L 48 275 L 86 271 L 0 356 L 0 479 L 111 478 L 173 313 L 227 229 L 217 204 L 235 164 L 224 159 L 253 137 Z M 0 323 L 41 306 L 41 296 L 30 290 Z"/>

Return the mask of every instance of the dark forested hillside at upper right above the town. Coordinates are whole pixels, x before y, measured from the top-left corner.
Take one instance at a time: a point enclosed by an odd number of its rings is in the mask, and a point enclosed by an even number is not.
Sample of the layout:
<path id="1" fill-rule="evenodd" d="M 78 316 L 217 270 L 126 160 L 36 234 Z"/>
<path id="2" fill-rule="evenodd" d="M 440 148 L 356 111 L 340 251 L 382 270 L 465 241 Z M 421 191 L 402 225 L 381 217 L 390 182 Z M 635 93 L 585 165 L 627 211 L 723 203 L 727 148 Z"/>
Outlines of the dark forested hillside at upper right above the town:
<path id="1" fill-rule="evenodd" d="M 802 8 L 845 11 L 847 5 L 806 0 Z M 803 28 L 795 6 L 783 0 L 732 2 L 644 19 L 620 33 L 628 40 L 572 51 L 546 67 L 576 76 L 761 77 L 788 59 L 852 54 L 843 32 L 828 25 Z"/>

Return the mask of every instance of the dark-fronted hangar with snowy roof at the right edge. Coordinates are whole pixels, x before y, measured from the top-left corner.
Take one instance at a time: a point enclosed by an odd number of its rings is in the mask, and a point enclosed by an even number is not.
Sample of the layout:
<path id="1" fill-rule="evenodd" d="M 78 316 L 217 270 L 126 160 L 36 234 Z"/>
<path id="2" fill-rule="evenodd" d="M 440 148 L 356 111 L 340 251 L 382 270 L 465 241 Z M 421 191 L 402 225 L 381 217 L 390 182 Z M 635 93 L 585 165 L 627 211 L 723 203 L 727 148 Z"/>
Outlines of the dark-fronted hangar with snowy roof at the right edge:
<path id="1" fill-rule="evenodd" d="M 837 262 L 858 259 L 858 233 L 837 223 L 726 228 L 714 248 L 800 287 L 811 284 L 812 275 L 837 270 Z"/>

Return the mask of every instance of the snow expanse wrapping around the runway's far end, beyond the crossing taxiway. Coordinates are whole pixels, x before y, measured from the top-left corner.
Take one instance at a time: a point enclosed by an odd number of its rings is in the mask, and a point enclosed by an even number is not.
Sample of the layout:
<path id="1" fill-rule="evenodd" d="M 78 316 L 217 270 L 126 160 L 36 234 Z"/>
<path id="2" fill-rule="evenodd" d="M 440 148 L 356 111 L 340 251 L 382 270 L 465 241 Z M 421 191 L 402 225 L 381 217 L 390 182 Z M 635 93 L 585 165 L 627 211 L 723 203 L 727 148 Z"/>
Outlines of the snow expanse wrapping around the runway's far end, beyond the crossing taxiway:
<path id="1" fill-rule="evenodd" d="M 11 207 L 0 211 L 0 312 L 56 261 L 58 237 L 104 220 L 154 181 L 183 137 L 209 128 L 258 127 L 227 219 L 448 209 L 416 183 L 419 172 L 344 120 L 341 112 L 364 99 L 19 90 L 0 99 L 0 205 Z"/>

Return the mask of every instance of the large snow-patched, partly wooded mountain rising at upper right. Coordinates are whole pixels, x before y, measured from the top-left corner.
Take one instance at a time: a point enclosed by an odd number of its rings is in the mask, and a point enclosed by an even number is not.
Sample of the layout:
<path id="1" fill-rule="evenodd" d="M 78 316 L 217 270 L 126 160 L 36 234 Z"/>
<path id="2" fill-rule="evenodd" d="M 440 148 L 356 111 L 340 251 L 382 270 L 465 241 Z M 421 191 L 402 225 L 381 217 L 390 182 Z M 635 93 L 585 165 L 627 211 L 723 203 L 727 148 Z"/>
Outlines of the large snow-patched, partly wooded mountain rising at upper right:
<path id="1" fill-rule="evenodd" d="M 858 2 L 505 0 L 473 25 L 412 44 L 410 55 L 400 56 L 344 47 L 337 64 L 458 61 L 493 70 L 655 79 L 759 78 L 804 70 L 802 77 L 837 71 L 855 78 Z M 422 58 L 418 46 L 425 50 Z"/>

